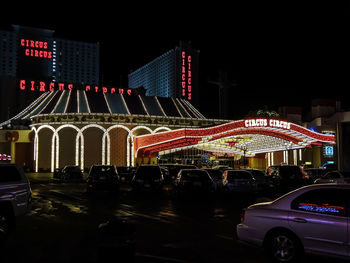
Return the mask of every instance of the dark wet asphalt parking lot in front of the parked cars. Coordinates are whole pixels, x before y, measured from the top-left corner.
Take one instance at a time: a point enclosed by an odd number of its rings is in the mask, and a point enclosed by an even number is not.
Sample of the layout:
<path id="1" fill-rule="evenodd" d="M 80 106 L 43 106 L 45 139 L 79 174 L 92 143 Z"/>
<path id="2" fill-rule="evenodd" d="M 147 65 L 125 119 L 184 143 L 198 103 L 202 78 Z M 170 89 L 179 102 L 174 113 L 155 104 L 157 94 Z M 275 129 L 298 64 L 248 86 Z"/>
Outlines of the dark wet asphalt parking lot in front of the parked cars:
<path id="1" fill-rule="evenodd" d="M 101 262 L 99 225 L 120 221 L 135 233 L 134 262 L 270 262 L 235 236 L 242 208 L 272 198 L 263 193 L 178 199 L 170 185 L 161 193 L 134 193 L 123 184 L 117 194 L 91 196 L 85 183 L 53 182 L 44 174 L 30 178 L 31 211 L 17 219 L 1 262 Z M 109 241 L 118 241 L 113 231 Z M 126 262 L 115 244 L 115 259 Z"/>

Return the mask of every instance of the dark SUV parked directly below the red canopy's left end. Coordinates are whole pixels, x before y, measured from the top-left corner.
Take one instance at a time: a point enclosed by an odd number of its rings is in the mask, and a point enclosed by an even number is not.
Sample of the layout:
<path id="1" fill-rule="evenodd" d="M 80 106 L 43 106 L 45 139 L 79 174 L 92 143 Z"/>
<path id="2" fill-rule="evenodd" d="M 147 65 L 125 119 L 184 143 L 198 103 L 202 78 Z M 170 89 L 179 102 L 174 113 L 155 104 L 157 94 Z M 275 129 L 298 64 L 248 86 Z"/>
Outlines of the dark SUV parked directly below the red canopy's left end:
<path id="1" fill-rule="evenodd" d="M 164 177 L 159 165 L 141 165 L 137 167 L 131 180 L 133 190 L 160 191 L 163 189 Z"/>

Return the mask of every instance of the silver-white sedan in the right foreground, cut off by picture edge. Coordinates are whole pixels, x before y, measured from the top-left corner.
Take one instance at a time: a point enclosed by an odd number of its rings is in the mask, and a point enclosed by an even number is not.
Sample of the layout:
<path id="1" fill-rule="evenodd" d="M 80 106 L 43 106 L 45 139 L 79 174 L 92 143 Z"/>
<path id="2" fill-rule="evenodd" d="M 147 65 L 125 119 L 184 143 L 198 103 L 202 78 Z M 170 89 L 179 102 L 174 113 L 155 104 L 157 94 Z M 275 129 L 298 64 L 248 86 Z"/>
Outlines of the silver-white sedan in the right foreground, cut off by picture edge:
<path id="1" fill-rule="evenodd" d="M 237 238 L 264 247 L 279 262 L 304 252 L 349 259 L 349 201 L 349 184 L 304 186 L 245 209 Z"/>

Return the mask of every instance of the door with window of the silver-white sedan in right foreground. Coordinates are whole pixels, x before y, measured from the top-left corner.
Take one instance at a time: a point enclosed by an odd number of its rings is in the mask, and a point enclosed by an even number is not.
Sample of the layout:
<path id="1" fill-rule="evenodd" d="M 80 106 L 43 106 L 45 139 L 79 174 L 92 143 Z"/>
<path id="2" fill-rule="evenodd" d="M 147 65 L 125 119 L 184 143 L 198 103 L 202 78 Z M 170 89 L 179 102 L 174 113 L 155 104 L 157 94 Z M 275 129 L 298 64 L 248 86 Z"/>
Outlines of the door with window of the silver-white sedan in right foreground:
<path id="1" fill-rule="evenodd" d="M 348 218 L 344 191 L 314 189 L 291 203 L 289 225 L 306 252 L 347 256 Z"/>

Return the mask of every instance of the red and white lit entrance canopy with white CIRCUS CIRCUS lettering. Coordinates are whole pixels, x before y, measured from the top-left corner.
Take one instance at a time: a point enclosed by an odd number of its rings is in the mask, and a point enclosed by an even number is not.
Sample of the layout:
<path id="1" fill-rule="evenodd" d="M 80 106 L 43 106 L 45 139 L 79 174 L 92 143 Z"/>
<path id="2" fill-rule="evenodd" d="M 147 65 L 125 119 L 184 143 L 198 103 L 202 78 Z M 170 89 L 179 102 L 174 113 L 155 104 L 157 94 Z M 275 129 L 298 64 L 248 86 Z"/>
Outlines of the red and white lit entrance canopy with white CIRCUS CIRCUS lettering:
<path id="1" fill-rule="evenodd" d="M 209 128 L 185 128 L 141 135 L 136 137 L 134 146 L 137 157 L 188 148 L 254 156 L 322 143 L 335 143 L 334 135 L 317 133 L 278 119 L 250 118 Z"/>

